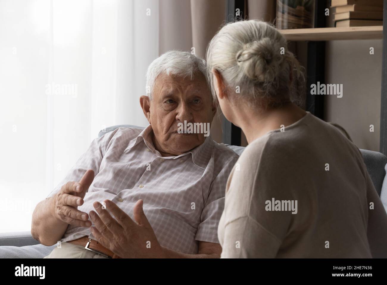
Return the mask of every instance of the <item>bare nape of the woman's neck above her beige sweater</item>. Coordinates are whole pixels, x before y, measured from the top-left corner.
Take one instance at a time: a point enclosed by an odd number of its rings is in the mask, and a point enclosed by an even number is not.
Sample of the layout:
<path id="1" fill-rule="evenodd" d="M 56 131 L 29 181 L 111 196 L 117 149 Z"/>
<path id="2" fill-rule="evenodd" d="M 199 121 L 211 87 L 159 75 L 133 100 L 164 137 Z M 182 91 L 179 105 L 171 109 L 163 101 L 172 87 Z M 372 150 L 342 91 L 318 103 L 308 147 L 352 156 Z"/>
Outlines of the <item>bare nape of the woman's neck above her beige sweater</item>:
<path id="1" fill-rule="evenodd" d="M 236 123 L 242 129 L 247 142 L 265 135 L 271 130 L 281 128 L 281 125 L 289 126 L 300 120 L 306 112 L 293 103 L 272 109 L 235 109 Z"/>

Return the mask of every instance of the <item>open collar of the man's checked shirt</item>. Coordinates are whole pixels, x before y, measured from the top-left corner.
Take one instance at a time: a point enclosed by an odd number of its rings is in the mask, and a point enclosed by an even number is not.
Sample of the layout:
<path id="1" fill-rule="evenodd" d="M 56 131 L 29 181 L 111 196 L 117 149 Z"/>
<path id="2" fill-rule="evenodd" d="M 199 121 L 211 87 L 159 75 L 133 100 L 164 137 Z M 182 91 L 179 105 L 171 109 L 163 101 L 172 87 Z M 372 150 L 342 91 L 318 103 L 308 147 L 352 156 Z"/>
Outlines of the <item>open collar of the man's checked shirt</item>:
<path id="1" fill-rule="evenodd" d="M 137 136 L 137 138 L 133 141 L 130 141 L 130 144 L 128 147 L 125 149 L 131 149 L 135 145 L 139 144 L 140 142 L 143 142 L 146 147 L 151 150 L 155 155 L 162 156 L 158 150 L 154 148 L 153 142 L 152 142 L 152 125 L 149 124 L 146 126 L 144 130 L 141 131 L 141 133 Z M 211 135 L 207 136 L 204 140 L 204 142 L 201 145 L 198 145 L 194 149 L 188 150 L 187 152 L 176 155 L 176 156 L 168 156 L 168 157 L 163 157 L 164 159 L 178 159 L 180 157 L 183 157 L 185 155 L 191 154 L 192 156 L 192 161 L 194 164 L 202 169 L 207 168 L 207 164 L 209 160 L 211 159 L 212 155 L 212 149 L 214 142 L 211 138 Z"/>

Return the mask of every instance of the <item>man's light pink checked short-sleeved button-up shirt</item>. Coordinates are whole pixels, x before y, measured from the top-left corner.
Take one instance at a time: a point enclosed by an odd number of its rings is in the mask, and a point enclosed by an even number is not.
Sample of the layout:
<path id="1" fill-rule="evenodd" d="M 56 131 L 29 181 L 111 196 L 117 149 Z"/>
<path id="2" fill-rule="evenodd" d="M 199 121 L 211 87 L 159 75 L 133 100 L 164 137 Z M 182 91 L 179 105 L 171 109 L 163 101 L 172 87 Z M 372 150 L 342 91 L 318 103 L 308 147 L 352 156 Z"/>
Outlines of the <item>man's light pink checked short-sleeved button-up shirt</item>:
<path id="1" fill-rule="evenodd" d="M 144 130 L 121 127 L 94 139 L 48 197 L 93 169 L 94 181 L 80 211 L 89 213 L 95 201 L 109 199 L 133 219 L 133 206 L 143 199 L 159 243 L 197 254 L 198 241 L 219 243 L 217 226 L 226 182 L 238 155 L 207 136 L 202 145 L 185 154 L 162 157 L 153 146 L 152 131 L 151 125 Z M 85 235 L 94 238 L 89 228 L 69 225 L 61 241 Z"/>

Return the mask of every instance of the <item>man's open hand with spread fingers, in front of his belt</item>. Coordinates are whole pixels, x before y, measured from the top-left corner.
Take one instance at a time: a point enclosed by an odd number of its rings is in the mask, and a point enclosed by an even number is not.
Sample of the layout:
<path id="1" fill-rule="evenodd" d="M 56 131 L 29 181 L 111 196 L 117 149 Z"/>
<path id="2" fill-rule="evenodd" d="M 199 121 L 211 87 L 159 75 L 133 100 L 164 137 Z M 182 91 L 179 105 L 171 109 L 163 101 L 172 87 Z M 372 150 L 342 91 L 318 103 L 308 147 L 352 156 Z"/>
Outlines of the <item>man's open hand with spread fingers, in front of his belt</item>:
<path id="1" fill-rule="evenodd" d="M 164 257 L 163 248 L 142 209 L 142 200 L 138 200 L 134 206 L 135 221 L 114 202 L 104 202 L 106 209 L 103 209 L 99 202 L 93 204 L 99 216 L 94 211 L 89 213 L 95 225 L 95 228 L 90 227 L 91 232 L 100 244 L 122 258 Z"/>

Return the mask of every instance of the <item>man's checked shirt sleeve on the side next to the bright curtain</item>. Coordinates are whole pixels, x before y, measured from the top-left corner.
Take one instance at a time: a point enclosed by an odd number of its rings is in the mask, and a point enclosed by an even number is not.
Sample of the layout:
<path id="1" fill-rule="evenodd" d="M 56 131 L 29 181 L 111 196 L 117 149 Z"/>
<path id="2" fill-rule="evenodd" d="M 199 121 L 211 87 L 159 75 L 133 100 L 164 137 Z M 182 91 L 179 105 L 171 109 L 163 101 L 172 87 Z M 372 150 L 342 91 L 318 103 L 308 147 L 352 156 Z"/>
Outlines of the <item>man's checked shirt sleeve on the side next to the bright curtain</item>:
<path id="1" fill-rule="evenodd" d="M 67 175 L 59 182 L 57 187 L 48 194 L 46 199 L 53 197 L 58 193 L 62 186 L 68 181 L 80 181 L 88 169 L 94 171 L 95 177 L 99 172 L 99 167 L 101 166 L 101 161 L 108 148 L 109 142 L 119 129 L 120 128 L 92 140 L 86 152 L 79 157 L 74 166 L 68 171 Z"/>

